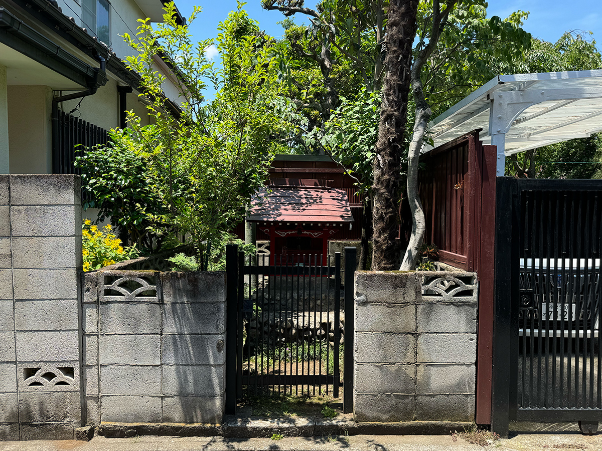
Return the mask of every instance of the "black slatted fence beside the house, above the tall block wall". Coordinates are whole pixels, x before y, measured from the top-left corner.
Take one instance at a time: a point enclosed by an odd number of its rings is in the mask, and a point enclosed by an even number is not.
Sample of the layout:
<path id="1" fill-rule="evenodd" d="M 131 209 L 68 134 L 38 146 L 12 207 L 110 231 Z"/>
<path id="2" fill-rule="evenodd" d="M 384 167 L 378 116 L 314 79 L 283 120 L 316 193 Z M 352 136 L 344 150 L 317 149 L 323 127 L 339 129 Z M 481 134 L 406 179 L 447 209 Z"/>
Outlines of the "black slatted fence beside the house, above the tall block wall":
<path id="1" fill-rule="evenodd" d="M 107 130 L 63 111 L 57 115 L 52 137 L 52 173 L 81 176 L 81 169 L 73 166 L 75 151 L 107 144 Z"/>

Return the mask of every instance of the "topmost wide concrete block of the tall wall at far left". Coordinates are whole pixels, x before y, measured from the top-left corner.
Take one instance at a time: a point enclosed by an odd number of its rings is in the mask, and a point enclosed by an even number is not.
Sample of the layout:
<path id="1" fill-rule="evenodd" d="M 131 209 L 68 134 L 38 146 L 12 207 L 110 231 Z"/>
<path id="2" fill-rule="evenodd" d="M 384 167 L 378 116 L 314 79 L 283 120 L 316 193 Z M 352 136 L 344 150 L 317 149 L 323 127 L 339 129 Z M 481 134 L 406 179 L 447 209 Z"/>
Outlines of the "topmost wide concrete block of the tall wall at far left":
<path id="1" fill-rule="evenodd" d="M 11 204 L 81 204 L 81 179 L 73 174 L 13 174 Z"/>

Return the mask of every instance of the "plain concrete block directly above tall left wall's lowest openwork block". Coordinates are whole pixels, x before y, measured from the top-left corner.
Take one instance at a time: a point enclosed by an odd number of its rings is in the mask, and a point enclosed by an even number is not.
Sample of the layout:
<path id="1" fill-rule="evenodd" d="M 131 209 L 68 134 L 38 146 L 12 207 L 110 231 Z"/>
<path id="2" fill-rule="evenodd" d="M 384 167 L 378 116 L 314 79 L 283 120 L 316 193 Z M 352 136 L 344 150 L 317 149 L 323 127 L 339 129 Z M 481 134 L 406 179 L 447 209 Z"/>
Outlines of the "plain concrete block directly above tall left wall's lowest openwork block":
<path id="1" fill-rule="evenodd" d="M 16 332 L 17 361 L 79 360 L 78 331 Z"/>

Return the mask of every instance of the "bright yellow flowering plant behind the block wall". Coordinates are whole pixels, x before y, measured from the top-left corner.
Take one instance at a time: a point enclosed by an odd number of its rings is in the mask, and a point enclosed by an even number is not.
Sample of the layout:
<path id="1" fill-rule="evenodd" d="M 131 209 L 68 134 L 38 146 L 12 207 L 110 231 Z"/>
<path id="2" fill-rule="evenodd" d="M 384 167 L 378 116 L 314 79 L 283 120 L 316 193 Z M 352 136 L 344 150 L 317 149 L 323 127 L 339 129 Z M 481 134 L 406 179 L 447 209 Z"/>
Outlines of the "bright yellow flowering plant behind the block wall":
<path id="1" fill-rule="evenodd" d="M 92 225 L 90 219 L 85 219 L 81 234 L 84 271 L 93 271 L 138 257 L 135 245 L 124 248 L 110 224 L 99 230 L 98 226 Z"/>

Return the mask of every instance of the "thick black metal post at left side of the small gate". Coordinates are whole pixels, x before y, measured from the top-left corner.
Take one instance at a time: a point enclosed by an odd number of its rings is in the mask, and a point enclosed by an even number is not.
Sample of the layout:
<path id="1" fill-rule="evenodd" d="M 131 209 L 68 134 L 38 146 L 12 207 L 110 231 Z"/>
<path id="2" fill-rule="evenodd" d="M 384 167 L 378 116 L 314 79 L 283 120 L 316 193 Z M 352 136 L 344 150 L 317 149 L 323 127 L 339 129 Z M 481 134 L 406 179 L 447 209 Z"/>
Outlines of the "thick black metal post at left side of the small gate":
<path id="1" fill-rule="evenodd" d="M 236 413 L 238 245 L 226 245 L 226 414 Z"/>

